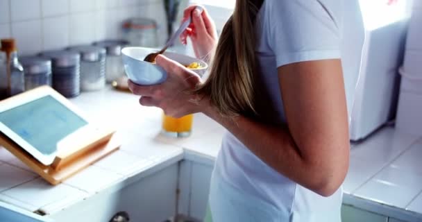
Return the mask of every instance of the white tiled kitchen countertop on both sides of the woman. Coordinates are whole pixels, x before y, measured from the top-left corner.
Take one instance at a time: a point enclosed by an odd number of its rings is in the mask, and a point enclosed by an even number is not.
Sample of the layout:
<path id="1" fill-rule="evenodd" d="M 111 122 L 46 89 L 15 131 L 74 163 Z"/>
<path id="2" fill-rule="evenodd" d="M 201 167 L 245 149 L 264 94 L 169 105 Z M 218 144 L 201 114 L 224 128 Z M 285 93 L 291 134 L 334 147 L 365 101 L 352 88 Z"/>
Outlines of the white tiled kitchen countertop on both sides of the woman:
<path id="1" fill-rule="evenodd" d="M 31 212 L 53 214 L 105 189 L 189 159 L 213 164 L 224 128 L 195 114 L 193 133 L 184 139 L 160 135 L 162 112 L 142 107 L 138 97 L 107 88 L 71 102 L 92 119 L 110 123 L 121 139 L 119 151 L 51 186 L 0 147 L 0 201 Z M 422 221 L 422 137 L 385 128 L 351 148 L 344 203 L 409 221 Z M 95 181 L 95 182 L 92 182 Z"/>

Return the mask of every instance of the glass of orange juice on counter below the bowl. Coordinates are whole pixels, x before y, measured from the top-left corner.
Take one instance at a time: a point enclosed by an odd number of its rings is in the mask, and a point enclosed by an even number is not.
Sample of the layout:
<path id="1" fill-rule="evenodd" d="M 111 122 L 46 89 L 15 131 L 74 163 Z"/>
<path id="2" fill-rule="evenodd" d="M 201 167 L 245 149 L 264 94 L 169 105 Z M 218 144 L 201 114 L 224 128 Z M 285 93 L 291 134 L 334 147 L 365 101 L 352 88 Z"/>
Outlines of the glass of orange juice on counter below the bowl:
<path id="1" fill-rule="evenodd" d="M 188 137 L 192 132 L 194 114 L 173 118 L 162 114 L 162 132 L 170 137 Z"/>

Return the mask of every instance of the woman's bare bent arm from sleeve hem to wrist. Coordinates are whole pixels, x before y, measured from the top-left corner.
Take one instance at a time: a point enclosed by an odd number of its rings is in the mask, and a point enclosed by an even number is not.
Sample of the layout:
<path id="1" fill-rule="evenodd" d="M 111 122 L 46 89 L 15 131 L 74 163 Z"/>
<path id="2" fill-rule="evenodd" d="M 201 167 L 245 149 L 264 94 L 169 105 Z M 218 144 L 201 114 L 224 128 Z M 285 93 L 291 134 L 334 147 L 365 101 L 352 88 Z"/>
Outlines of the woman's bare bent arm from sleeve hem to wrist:
<path id="1" fill-rule="evenodd" d="M 278 68 L 286 128 L 204 111 L 276 171 L 322 196 L 333 194 L 348 170 L 346 97 L 340 60 Z"/>

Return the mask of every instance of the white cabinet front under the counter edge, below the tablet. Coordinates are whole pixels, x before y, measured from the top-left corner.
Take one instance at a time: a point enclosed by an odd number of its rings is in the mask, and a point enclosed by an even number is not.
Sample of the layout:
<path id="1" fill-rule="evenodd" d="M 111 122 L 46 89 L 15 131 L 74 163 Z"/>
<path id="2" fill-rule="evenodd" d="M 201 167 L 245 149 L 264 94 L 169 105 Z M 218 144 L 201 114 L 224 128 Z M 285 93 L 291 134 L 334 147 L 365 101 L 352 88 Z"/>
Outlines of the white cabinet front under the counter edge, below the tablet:
<path id="1" fill-rule="evenodd" d="M 176 214 L 177 176 L 176 163 L 130 184 L 95 194 L 50 217 L 60 222 L 104 222 L 124 211 L 130 221 L 164 221 Z"/>

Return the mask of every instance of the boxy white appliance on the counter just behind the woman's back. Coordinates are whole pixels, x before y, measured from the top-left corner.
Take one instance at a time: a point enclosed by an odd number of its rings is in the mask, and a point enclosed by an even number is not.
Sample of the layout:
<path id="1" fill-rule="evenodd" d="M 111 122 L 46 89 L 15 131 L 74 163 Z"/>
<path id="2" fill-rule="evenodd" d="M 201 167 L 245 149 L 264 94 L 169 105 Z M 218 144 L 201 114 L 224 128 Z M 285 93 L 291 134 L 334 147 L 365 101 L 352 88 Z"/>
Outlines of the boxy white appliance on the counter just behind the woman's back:
<path id="1" fill-rule="evenodd" d="M 407 0 L 360 0 L 365 28 L 360 78 L 351 112 L 351 140 L 359 141 L 394 118 L 408 24 Z"/>

